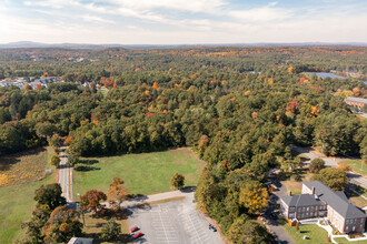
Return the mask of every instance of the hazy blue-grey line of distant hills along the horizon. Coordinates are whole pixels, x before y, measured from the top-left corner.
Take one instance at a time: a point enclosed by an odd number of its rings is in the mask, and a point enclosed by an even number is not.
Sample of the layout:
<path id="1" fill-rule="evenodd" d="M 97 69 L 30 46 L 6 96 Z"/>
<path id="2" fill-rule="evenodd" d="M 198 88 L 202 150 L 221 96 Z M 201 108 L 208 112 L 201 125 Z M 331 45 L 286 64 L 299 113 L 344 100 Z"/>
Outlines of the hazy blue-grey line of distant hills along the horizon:
<path id="1" fill-rule="evenodd" d="M 305 47 L 305 45 L 357 45 L 367 47 L 367 42 L 297 42 L 297 43 L 216 43 L 216 44 L 87 44 L 87 43 L 41 43 L 32 41 L 17 41 L 0 44 L 0 49 L 20 49 L 20 48 L 65 48 L 65 49 L 88 49 L 98 50 L 105 48 L 126 48 L 126 49 L 177 49 L 177 48 L 195 48 L 195 47 Z"/>

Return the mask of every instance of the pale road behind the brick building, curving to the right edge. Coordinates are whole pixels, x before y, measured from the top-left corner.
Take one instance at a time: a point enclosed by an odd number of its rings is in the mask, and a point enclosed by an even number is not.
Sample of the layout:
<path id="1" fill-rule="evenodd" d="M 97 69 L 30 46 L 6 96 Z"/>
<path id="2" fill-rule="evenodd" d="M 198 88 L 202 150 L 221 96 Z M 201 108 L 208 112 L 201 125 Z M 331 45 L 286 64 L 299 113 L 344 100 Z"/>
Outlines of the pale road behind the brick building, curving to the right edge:
<path id="1" fill-rule="evenodd" d="M 296 145 L 291 145 L 291 148 L 296 152 L 305 154 L 306 156 L 308 156 L 310 159 L 309 161 L 304 162 L 306 165 L 309 164 L 311 162 L 311 160 L 314 160 L 314 159 L 323 159 L 325 161 L 326 166 L 338 167 L 338 162 L 348 160 L 347 157 L 319 156 L 319 155 L 316 155 L 315 153 L 310 152 L 307 149 L 299 148 L 299 146 L 296 146 Z M 354 172 L 349 171 L 347 173 L 347 176 L 353 181 L 353 183 L 359 184 L 364 187 L 367 187 L 367 179 L 363 177 L 361 175 L 355 174 Z"/>

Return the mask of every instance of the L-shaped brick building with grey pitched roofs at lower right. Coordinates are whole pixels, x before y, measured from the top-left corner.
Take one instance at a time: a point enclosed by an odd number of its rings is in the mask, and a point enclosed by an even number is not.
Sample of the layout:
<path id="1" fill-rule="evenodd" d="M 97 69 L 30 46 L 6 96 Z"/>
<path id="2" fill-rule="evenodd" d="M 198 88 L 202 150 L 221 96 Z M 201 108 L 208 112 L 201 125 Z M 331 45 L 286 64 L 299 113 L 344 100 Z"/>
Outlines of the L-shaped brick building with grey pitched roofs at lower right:
<path id="1" fill-rule="evenodd" d="M 365 212 L 343 191 L 335 192 L 320 181 L 304 182 L 301 194 L 280 197 L 280 211 L 291 222 L 325 217 L 340 233 L 365 232 Z"/>

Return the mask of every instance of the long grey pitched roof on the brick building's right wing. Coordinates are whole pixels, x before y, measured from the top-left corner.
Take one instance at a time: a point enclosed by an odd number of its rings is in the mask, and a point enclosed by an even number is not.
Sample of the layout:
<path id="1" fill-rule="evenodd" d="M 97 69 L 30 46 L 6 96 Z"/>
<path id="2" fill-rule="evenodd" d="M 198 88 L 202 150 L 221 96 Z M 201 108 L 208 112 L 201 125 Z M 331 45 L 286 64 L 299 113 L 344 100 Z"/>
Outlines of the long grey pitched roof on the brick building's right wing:
<path id="1" fill-rule="evenodd" d="M 308 189 L 315 187 L 315 194 L 345 218 L 366 217 L 366 214 L 351 204 L 344 192 L 334 192 L 320 181 L 304 182 Z"/>

